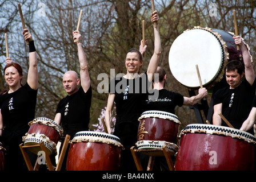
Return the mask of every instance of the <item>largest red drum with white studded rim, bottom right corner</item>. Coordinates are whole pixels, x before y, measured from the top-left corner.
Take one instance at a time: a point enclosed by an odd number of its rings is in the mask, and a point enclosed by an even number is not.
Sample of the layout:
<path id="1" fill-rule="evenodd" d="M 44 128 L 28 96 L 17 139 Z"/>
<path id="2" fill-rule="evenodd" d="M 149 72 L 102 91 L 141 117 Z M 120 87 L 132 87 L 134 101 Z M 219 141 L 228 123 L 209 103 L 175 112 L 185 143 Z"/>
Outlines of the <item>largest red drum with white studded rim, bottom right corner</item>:
<path id="1" fill-rule="evenodd" d="M 256 139 L 230 127 L 192 124 L 181 131 L 177 171 L 253 170 Z"/>

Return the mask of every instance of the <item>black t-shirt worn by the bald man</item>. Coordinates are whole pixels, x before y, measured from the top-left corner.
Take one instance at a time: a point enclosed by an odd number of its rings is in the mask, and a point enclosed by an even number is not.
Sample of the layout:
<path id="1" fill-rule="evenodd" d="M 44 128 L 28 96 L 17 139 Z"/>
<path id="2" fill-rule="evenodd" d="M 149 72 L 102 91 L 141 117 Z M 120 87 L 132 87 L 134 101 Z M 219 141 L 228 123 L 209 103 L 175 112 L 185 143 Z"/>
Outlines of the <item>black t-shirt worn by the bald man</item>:
<path id="1" fill-rule="evenodd" d="M 90 107 L 91 107 L 91 86 L 85 93 L 82 86 L 78 92 L 71 96 L 66 96 L 59 101 L 55 113 L 61 113 L 61 123 L 65 130 L 65 125 L 82 125 L 80 130 L 88 130 L 90 122 Z"/>

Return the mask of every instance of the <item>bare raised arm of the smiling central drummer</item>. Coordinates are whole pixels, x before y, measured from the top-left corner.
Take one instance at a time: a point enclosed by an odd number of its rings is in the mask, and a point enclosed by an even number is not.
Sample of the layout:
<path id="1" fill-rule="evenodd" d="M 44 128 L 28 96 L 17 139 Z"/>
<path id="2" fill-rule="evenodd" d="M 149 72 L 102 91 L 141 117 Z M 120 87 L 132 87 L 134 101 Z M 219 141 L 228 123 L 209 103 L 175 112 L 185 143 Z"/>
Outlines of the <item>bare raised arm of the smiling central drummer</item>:
<path id="1" fill-rule="evenodd" d="M 154 11 L 151 14 L 151 22 L 157 22 L 159 20 L 159 16 L 157 11 Z M 154 27 L 154 53 L 149 62 L 149 67 L 147 68 L 147 75 L 149 77 L 149 81 L 152 81 L 154 73 L 157 71 L 160 55 L 161 55 L 161 38 L 159 34 L 159 25 L 157 23 L 157 27 Z"/>

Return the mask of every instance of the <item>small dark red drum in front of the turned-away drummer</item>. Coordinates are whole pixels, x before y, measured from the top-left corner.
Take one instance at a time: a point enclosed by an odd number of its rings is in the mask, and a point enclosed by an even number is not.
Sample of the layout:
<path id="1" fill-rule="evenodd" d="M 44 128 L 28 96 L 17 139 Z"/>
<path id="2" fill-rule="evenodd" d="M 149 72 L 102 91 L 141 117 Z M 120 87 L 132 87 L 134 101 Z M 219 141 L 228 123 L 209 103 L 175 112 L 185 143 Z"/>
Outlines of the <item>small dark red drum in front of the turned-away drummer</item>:
<path id="1" fill-rule="evenodd" d="M 165 111 L 149 110 L 139 117 L 138 142 L 139 149 L 162 148 L 166 145 L 175 152 L 178 147 L 179 119 L 177 115 Z"/>

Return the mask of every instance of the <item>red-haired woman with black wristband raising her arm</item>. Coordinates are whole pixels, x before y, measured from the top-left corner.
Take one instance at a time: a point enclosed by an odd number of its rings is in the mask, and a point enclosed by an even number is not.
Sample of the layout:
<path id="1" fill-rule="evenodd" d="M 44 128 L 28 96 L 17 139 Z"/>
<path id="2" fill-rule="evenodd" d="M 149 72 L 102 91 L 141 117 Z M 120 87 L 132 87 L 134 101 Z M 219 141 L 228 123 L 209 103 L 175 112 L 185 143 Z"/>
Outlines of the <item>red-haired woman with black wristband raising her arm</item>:
<path id="1" fill-rule="evenodd" d="M 9 57 L 4 69 L 8 89 L 0 96 L 0 142 L 6 148 L 5 170 L 27 169 L 19 149 L 22 137 L 29 130 L 28 123 L 35 116 L 38 90 L 37 52 L 29 30 L 23 30 L 24 40 L 29 40 L 29 71 L 22 85 L 22 68 Z"/>

